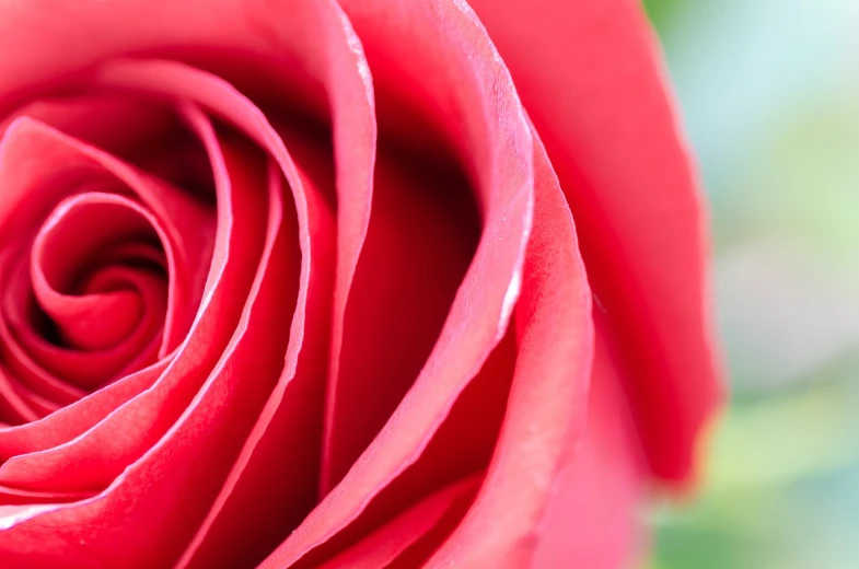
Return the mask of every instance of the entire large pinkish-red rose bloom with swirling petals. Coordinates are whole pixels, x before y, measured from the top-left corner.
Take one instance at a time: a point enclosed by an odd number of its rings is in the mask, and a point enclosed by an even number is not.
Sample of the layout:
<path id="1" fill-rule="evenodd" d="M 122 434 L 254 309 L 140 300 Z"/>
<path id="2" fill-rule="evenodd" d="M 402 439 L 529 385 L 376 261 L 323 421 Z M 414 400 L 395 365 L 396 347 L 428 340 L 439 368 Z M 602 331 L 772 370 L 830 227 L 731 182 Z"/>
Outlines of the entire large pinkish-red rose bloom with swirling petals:
<path id="1" fill-rule="evenodd" d="M 635 2 L 473 5 L 0 3 L 0 566 L 634 554 L 693 172 Z"/>

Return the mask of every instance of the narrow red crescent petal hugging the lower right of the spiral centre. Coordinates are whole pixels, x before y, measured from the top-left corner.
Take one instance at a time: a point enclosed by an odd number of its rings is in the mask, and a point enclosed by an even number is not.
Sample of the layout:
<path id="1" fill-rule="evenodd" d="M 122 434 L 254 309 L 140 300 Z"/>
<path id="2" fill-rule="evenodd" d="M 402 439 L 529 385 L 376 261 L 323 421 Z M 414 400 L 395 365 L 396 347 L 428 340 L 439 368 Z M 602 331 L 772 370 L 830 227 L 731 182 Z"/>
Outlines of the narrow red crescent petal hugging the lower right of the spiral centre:
<path id="1" fill-rule="evenodd" d="M 229 165 L 246 167 L 242 156 L 227 158 L 231 160 Z M 227 166 L 221 162 L 216 167 Z M 230 174 L 235 179 L 231 181 Z M 259 234 L 258 220 L 267 207 L 259 195 L 262 190 L 253 185 L 258 177 L 253 176 L 258 174 L 223 172 L 219 187 L 219 218 L 223 219 L 219 219 L 212 263 L 216 283 L 164 375 L 82 437 L 54 449 L 12 457 L 0 466 L 0 480 L 28 489 L 102 489 L 179 417 L 227 347 L 251 288 L 254 271 L 248 271 L 247 266 L 254 266 L 259 258 L 264 235 Z M 248 302 L 253 304 L 253 299 Z M 196 346 L 206 346 L 206 350 Z"/>

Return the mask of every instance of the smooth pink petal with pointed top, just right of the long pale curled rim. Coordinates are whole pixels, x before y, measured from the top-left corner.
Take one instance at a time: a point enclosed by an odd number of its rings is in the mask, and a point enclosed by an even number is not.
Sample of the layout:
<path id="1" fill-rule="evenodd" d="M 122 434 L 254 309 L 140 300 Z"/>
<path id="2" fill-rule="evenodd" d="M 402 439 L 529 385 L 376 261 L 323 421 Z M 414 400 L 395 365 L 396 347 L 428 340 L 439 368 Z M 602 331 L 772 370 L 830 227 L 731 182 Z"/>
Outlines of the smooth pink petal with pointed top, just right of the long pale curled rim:
<path id="1" fill-rule="evenodd" d="M 538 139 L 534 178 L 534 231 L 514 312 L 519 355 L 504 423 L 474 507 L 430 567 L 525 567 L 561 457 L 582 434 L 593 356 L 590 289 L 572 218 Z M 583 520 L 578 511 L 565 513 Z"/>

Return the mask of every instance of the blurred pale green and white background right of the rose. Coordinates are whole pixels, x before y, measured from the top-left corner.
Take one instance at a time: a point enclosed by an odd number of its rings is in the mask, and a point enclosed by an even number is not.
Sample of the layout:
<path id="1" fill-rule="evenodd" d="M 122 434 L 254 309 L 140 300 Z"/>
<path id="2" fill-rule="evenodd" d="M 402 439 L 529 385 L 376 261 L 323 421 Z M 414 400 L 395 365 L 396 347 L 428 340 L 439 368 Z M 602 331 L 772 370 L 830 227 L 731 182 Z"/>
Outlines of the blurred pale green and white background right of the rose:
<path id="1" fill-rule="evenodd" d="M 859 568 L 859 0 L 649 0 L 732 397 L 651 569 Z"/>

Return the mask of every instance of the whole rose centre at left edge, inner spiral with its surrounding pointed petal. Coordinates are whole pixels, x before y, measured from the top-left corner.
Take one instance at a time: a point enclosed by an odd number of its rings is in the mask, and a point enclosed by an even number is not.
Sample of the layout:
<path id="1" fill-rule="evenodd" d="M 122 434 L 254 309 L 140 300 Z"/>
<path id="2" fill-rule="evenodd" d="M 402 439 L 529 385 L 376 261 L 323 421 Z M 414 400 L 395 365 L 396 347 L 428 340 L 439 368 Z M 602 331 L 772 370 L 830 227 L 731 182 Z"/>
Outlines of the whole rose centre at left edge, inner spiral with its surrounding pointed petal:
<path id="1" fill-rule="evenodd" d="M 28 118 L 8 127 L 0 179 L 0 422 L 171 358 L 208 270 L 177 228 L 209 206 Z"/>

